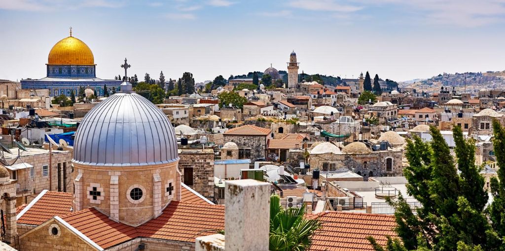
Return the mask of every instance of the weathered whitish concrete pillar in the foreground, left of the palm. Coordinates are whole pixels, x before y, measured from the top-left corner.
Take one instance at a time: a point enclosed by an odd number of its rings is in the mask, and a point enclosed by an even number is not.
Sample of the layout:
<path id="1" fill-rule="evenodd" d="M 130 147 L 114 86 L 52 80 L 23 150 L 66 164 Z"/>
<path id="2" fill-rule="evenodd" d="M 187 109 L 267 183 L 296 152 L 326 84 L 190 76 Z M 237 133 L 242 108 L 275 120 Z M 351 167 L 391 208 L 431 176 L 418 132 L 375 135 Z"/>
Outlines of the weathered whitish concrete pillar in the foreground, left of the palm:
<path id="1" fill-rule="evenodd" d="M 270 183 L 254 179 L 225 182 L 226 251 L 267 251 Z"/>

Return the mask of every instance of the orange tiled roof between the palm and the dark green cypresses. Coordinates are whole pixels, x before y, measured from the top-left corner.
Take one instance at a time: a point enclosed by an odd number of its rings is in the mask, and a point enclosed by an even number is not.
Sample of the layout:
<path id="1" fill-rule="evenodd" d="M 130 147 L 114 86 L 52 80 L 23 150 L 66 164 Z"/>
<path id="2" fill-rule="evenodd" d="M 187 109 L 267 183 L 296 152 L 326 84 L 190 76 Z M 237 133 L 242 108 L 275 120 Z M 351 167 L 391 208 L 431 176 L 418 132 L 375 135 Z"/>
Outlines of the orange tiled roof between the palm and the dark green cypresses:
<path id="1" fill-rule="evenodd" d="M 384 246 L 386 235 L 396 237 L 394 216 L 326 211 L 319 215 L 322 228 L 312 236 L 310 251 L 374 250 L 368 236 Z"/>

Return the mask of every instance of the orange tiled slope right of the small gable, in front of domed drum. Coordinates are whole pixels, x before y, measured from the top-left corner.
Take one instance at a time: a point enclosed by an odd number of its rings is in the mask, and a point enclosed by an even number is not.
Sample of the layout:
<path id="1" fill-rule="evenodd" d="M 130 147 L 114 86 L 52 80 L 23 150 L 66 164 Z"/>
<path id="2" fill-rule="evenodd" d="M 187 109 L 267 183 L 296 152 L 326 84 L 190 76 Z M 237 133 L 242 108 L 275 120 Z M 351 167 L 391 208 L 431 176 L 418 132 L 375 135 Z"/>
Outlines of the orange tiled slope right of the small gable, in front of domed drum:
<path id="1" fill-rule="evenodd" d="M 115 222 L 94 208 L 61 217 L 102 248 L 108 248 L 137 237 L 135 227 Z"/>

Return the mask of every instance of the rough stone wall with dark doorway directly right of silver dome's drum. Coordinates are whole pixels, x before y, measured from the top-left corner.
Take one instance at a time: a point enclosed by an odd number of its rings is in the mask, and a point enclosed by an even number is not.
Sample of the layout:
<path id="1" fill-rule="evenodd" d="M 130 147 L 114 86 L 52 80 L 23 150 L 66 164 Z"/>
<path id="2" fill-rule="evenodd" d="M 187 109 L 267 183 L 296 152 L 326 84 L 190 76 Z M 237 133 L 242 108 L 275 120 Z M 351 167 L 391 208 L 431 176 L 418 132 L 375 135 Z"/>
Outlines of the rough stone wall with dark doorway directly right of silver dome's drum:
<path id="1" fill-rule="evenodd" d="M 179 171 L 193 168 L 193 184 L 186 184 L 205 197 L 214 197 L 214 151 L 212 149 L 179 149 Z"/>

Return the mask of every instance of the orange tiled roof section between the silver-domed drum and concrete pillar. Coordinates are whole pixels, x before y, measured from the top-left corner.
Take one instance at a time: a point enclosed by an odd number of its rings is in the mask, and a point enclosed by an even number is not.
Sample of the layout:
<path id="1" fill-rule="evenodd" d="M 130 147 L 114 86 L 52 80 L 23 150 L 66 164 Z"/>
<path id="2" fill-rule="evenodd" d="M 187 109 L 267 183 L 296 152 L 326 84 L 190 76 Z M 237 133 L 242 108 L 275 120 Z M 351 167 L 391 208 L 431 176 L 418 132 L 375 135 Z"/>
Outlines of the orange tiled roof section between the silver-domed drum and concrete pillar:
<path id="1" fill-rule="evenodd" d="M 148 238 L 192 242 L 198 236 L 224 230 L 224 206 L 172 201 L 163 214 L 137 227 Z"/>

